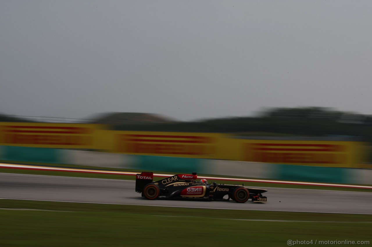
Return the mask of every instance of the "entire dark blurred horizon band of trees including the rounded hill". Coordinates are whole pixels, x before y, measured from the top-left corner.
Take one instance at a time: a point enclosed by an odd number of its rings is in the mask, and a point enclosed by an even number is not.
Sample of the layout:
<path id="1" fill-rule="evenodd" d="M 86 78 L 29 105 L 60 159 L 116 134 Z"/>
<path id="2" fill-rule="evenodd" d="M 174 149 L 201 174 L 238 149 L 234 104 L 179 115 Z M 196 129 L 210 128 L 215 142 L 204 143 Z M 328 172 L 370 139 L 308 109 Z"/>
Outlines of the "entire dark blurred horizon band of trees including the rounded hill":
<path id="1" fill-rule="evenodd" d="M 42 117 L 20 118 L 0 114 L 0 122 L 44 122 Z M 36 121 L 35 121 L 36 120 Z M 51 119 L 48 119 L 49 122 Z M 336 141 L 369 142 L 372 162 L 372 115 L 341 112 L 332 108 L 272 108 L 252 117 L 232 117 L 180 122 L 151 113 L 105 113 L 93 119 L 70 119 L 79 123 L 100 123 L 113 130 L 163 132 L 227 133 L 240 138 L 315 138 Z M 55 120 L 57 121 L 57 120 Z M 58 122 L 58 121 L 57 121 Z"/>

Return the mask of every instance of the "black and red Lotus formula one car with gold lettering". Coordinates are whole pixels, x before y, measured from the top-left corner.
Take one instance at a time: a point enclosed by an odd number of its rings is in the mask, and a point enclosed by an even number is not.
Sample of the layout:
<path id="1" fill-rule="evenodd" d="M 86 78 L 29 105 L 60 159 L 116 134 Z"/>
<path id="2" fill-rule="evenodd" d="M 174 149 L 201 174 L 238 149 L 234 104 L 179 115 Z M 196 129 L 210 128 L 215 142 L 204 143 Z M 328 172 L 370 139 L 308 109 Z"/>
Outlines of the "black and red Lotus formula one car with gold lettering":
<path id="1" fill-rule="evenodd" d="M 248 199 L 253 202 L 266 202 L 262 193 L 267 190 L 252 189 L 243 185 L 208 184 L 205 179 L 196 181 L 198 175 L 178 174 L 153 182 L 153 172 L 136 174 L 136 192 L 149 200 L 156 198 L 208 199 L 229 201 L 230 199 L 244 203 Z"/>

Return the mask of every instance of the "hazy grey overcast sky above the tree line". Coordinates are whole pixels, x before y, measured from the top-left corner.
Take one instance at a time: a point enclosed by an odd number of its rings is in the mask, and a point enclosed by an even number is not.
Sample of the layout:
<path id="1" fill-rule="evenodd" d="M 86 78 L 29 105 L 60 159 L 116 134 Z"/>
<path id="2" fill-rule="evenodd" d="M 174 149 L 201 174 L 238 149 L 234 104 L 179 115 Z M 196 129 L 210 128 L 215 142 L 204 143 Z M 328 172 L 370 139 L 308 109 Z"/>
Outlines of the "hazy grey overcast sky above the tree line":
<path id="1" fill-rule="evenodd" d="M 371 0 L 0 0 L 0 113 L 372 114 L 371 11 Z"/>

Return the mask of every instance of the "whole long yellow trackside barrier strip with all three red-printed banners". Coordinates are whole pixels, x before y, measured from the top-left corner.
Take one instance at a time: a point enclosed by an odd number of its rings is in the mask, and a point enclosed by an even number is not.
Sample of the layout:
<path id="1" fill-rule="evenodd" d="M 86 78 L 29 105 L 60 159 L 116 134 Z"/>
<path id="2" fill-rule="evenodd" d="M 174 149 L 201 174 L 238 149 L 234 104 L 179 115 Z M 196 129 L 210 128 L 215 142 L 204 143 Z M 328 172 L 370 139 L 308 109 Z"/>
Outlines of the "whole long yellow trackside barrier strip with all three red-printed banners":
<path id="1" fill-rule="evenodd" d="M 363 142 L 235 139 L 226 134 L 112 131 L 105 125 L 0 122 L 0 145 L 361 168 Z"/>

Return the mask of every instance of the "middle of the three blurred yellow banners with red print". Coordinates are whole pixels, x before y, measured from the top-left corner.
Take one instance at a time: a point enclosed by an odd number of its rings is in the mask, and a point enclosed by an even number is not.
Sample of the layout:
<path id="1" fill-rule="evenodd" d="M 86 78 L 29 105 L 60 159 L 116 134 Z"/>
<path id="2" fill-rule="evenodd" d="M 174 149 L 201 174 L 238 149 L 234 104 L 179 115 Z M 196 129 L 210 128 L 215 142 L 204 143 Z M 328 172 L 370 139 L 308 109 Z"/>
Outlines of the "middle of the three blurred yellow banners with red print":
<path id="1" fill-rule="evenodd" d="M 217 158 L 223 134 L 115 131 L 113 152 L 186 158 Z"/>

